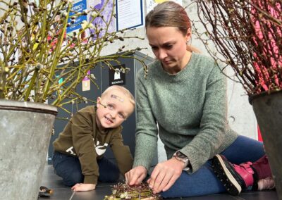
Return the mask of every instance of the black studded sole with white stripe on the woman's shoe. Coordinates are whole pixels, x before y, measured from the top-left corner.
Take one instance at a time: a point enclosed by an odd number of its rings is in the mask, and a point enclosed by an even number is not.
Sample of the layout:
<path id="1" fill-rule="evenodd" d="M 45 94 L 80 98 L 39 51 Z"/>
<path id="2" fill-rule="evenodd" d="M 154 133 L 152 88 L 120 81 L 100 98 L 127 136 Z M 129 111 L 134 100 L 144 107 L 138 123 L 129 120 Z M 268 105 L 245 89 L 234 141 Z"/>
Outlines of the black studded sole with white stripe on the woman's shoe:
<path id="1" fill-rule="evenodd" d="M 228 168 L 226 168 L 225 162 L 220 155 L 214 156 L 213 168 L 216 177 L 219 178 L 220 182 L 223 184 L 229 194 L 234 196 L 240 194 L 242 187 L 238 181 L 235 180 Z"/>

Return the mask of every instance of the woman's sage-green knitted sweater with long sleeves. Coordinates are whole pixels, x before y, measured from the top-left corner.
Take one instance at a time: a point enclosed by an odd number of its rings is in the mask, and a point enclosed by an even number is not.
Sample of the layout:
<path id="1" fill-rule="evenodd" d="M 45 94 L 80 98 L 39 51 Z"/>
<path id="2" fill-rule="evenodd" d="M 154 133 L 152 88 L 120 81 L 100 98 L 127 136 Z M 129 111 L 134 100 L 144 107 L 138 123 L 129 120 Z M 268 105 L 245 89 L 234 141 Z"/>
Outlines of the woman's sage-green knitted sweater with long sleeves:
<path id="1" fill-rule="evenodd" d="M 133 166 L 149 169 L 157 135 L 167 158 L 180 150 L 188 156 L 191 173 L 221 153 L 238 137 L 227 120 L 226 77 L 212 58 L 192 53 L 176 75 L 159 61 L 137 73 L 137 127 Z M 158 127 L 157 127 L 158 125 Z"/>

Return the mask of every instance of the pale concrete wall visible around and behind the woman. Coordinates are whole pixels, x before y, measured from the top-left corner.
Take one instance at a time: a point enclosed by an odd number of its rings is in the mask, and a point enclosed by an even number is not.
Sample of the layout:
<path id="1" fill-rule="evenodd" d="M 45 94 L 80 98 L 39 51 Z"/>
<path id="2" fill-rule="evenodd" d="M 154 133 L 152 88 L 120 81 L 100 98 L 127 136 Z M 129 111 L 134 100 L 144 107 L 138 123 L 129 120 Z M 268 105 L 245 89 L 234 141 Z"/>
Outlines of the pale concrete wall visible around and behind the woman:
<path id="1" fill-rule="evenodd" d="M 190 0 L 184 0 L 183 6 L 188 6 L 186 8 L 186 11 L 188 12 L 188 15 L 190 17 L 190 20 L 197 21 L 197 6 L 195 4 L 190 4 Z M 201 25 L 199 23 L 195 23 L 197 28 L 201 28 Z M 147 44 L 147 38 L 145 36 L 145 30 L 144 27 L 138 28 L 137 30 L 134 30 L 132 32 L 126 32 L 125 36 L 139 36 L 144 37 L 144 40 L 136 40 L 136 39 L 126 39 L 124 42 L 115 42 L 113 46 L 107 46 L 104 48 L 104 51 L 102 54 L 114 54 L 116 52 L 116 49 L 118 47 L 125 45 L 125 49 L 132 49 L 135 48 L 135 46 L 139 47 L 147 47 L 147 49 L 142 50 L 141 52 L 143 54 L 147 54 L 148 56 L 151 56 L 154 58 L 154 54 L 152 54 L 152 51 Z M 196 36 L 193 35 L 192 37 L 192 46 L 197 46 L 198 49 L 202 51 L 202 54 L 209 55 L 204 47 L 204 44 L 198 39 L 196 39 Z M 212 46 L 212 44 L 211 44 Z M 232 75 L 233 71 L 231 69 L 228 70 L 228 75 Z M 252 106 L 249 104 L 247 95 L 245 93 L 245 90 L 243 87 L 233 82 L 232 80 L 228 79 L 228 120 L 236 132 L 238 132 L 240 135 L 245 135 L 247 137 L 252 137 L 254 139 L 257 139 L 257 121 L 255 119 L 255 114 L 252 111 Z M 159 161 L 166 160 L 166 155 L 164 152 L 164 145 L 159 140 L 158 144 L 158 153 L 159 153 Z"/>

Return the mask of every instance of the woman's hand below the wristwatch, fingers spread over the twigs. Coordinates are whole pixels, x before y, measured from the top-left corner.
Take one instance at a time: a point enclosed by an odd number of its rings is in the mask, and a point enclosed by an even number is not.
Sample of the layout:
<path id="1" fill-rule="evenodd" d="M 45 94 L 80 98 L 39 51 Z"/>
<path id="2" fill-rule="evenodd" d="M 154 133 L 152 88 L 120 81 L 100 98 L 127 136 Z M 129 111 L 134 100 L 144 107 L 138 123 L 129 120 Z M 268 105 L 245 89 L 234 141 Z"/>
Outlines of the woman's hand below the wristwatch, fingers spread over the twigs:
<path id="1" fill-rule="evenodd" d="M 180 177 L 184 167 L 184 163 L 176 158 L 158 163 L 147 180 L 154 194 L 168 190 Z"/>

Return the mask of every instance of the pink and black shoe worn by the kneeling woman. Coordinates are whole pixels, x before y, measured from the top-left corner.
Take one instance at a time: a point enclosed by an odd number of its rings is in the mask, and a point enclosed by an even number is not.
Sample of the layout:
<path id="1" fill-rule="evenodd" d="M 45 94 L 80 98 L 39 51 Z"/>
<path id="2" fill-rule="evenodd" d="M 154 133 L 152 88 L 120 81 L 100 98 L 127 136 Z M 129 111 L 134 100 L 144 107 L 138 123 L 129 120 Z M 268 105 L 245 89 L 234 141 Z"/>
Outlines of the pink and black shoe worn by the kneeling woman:
<path id="1" fill-rule="evenodd" d="M 226 191 L 232 195 L 238 195 L 243 189 L 252 186 L 254 183 L 251 162 L 240 165 L 231 164 L 222 155 L 216 155 L 212 161 L 214 173 L 219 178 Z"/>

